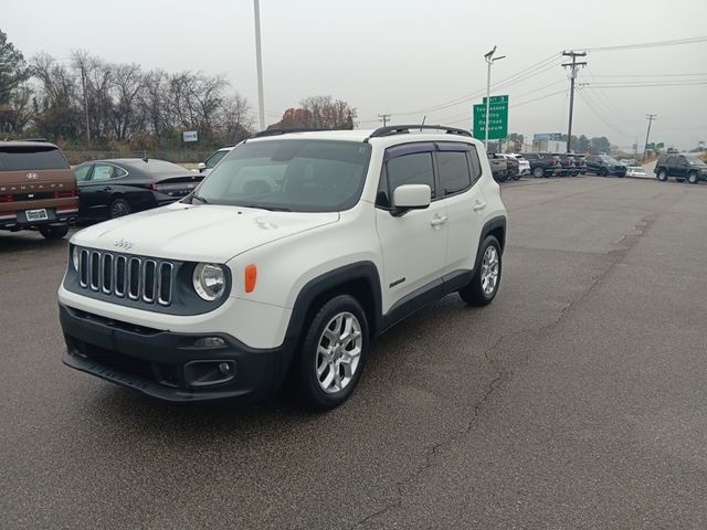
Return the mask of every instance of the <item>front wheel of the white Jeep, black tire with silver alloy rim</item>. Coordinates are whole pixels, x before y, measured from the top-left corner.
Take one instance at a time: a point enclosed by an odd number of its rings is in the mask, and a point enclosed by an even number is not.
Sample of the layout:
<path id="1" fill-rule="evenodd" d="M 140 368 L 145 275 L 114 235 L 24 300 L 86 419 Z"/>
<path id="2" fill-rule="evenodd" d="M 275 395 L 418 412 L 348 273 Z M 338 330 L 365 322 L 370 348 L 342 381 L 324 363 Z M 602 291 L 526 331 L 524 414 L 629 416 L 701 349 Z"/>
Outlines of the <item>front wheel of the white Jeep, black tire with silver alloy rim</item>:
<path id="1" fill-rule="evenodd" d="M 337 344 L 334 350 L 333 343 Z M 361 379 L 368 349 L 368 320 L 356 298 L 339 295 L 321 306 L 299 351 L 298 386 L 305 404 L 315 411 L 328 411 L 349 399 Z M 356 356 L 350 354 L 354 351 Z M 352 368 L 347 371 L 347 365 Z"/>

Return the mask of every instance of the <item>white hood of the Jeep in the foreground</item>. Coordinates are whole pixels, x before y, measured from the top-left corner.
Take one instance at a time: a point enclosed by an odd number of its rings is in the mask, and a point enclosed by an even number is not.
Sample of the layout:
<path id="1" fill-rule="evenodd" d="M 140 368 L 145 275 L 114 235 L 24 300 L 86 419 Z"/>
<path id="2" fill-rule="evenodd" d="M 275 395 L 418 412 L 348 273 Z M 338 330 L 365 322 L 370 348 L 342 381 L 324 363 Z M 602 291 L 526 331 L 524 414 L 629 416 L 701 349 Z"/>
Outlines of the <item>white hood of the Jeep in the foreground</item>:
<path id="1" fill-rule="evenodd" d="M 225 263 L 256 246 L 338 220 L 337 212 L 270 212 L 178 202 L 84 229 L 72 243 L 167 259 Z"/>

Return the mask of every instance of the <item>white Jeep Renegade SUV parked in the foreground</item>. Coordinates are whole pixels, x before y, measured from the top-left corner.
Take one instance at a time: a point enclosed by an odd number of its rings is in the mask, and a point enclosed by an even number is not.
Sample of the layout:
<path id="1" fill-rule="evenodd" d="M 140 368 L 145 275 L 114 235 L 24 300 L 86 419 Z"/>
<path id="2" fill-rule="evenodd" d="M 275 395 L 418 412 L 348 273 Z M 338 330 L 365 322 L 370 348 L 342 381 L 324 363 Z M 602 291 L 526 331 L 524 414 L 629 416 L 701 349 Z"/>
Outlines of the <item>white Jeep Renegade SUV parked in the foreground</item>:
<path id="1" fill-rule="evenodd" d="M 168 401 L 260 399 L 294 378 L 330 409 L 395 322 L 453 292 L 490 303 L 505 241 L 467 131 L 268 130 L 182 201 L 72 237 L 63 361 Z"/>

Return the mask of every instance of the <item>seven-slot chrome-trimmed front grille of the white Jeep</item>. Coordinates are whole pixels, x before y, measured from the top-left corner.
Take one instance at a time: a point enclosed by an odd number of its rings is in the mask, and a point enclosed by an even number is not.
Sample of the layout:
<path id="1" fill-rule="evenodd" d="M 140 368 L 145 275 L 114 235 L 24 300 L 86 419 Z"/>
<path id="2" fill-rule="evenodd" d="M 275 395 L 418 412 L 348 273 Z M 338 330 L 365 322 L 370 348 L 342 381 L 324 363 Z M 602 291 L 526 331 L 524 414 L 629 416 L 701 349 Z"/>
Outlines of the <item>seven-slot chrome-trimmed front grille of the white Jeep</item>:
<path id="1" fill-rule="evenodd" d="M 169 306 L 173 271 L 171 262 L 83 248 L 77 273 L 78 285 L 84 289 Z"/>

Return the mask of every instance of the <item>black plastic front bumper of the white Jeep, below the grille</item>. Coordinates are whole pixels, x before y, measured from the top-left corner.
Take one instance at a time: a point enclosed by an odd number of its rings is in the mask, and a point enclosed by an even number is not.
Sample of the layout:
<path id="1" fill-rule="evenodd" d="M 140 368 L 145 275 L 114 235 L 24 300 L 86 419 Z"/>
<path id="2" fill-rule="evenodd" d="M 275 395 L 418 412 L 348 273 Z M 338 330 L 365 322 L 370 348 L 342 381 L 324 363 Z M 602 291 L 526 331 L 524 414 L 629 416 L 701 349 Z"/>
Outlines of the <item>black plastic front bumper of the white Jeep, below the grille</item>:
<path id="1" fill-rule="evenodd" d="M 265 399 L 279 388 L 293 351 L 288 342 L 254 349 L 226 333 L 161 331 L 62 304 L 59 309 L 64 364 L 162 401 Z M 221 338 L 224 344 L 197 348 L 194 341 L 203 337 Z M 232 368 L 232 377 L 222 374 L 220 381 L 210 375 L 220 363 Z"/>

